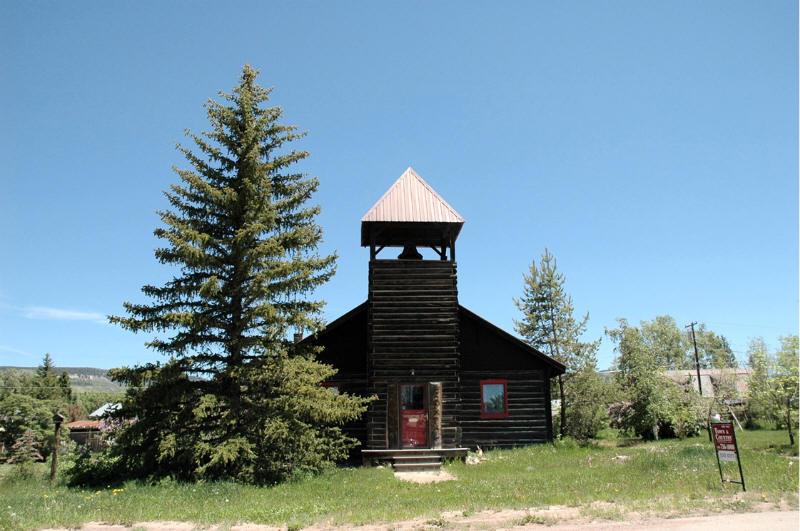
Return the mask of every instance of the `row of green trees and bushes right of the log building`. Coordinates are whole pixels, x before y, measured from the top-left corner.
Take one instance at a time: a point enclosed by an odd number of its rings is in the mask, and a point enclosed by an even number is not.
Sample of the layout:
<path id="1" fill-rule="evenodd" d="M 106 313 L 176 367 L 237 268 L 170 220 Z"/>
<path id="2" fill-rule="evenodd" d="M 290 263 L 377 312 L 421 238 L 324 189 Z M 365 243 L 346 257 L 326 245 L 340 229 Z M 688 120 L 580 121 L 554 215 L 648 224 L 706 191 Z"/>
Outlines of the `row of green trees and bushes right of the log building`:
<path id="1" fill-rule="evenodd" d="M 517 332 L 532 346 L 563 363 L 558 377 L 560 400 L 557 436 L 585 440 L 609 425 L 643 438 L 684 437 L 696 434 L 712 414 L 735 415 L 731 405 L 752 424 L 758 421 L 785 427 L 790 444 L 797 426 L 798 338 L 780 338 L 775 353 L 762 338 L 748 348 L 747 392 L 738 391 L 726 372 L 738 366 L 727 339 L 701 323 L 693 337 L 669 315 L 641 321 L 638 326 L 618 319 L 605 335 L 615 345 L 614 378 L 597 373 L 596 352 L 601 338 L 583 341 L 587 313 L 575 318 L 572 297 L 553 254 L 545 249 L 523 275 L 523 295 L 515 299 L 522 318 Z M 665 371 L 719 369 L 712 379 L 713 399 L 694 389 L 691 378 L 675 381 Z M 695 377 L 696 379 L 696 377 Z M 699 387 L 699 386 L 698 386 Z"/>

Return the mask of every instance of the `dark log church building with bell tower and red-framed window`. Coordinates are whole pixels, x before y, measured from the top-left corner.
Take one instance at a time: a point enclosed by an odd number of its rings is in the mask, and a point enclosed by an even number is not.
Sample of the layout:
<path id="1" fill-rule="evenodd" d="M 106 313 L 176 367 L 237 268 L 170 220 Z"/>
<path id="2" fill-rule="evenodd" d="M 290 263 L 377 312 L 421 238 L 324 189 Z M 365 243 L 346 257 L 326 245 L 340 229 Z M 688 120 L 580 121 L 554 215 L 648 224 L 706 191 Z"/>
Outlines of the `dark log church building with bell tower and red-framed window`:
<path id="1" fill-rule="evenodd" d="M 550 380 L 565 367 L 458 303 L 463 225 L 408 168 L 361 219 L 367 300 L 304 340 L 338 369 L 332 392 L 377 397 L 347 427 L 365 462 L 422 469 L 424 456 L 552 439 Z"/>

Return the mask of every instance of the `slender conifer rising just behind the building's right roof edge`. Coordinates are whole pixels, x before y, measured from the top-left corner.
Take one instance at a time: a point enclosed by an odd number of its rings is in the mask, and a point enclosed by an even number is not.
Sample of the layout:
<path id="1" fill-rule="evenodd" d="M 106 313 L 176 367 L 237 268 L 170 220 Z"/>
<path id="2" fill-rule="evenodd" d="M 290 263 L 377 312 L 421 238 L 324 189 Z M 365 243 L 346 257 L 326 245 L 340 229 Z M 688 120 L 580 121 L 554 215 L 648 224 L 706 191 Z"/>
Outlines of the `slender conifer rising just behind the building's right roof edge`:
<path id="1" fill-rule="evenodd" d="M 558 377 L 558 392 L 561 399 L 561 424 L 559 434 L 567 432 L 566 382 L 584 369 L 597 366 L 596 352 L 600 340 L 582 342 L 589 314 L 576 320 L 573 316 L 572 297 L 564 290 L 564 275 L 559 273 L 553 254 L 545 248 L 540 262 L 530 265 L 528 274 L 523 274 L 523 294 L 514 299 L 522 312 L 522 320 L 514 320 L 517 332 L 531 346 L 547 353 L 551 358 L 566 365 L 564 375 Z"/>

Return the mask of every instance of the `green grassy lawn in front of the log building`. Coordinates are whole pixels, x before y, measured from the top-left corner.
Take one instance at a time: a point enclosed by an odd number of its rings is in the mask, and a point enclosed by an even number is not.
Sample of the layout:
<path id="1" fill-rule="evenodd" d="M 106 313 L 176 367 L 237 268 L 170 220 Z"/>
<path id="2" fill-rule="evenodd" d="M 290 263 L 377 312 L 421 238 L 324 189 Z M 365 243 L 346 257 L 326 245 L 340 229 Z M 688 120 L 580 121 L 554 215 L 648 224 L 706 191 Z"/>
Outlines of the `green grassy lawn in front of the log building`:
<path id="1" fill-rule="evenodd" d="M 198 525 L 254 522 L 299 528 L 314 522 L 359 524 L 438 518 L 483 509 L 581 507 L 589 516 L 627 511 L 674 515 L 693 510 L 746 511 L 764 500 L 798 504 L 797 448 L 785 432 L 737 432 L 748 492 L 721 484 L 705 434 L 682 441 L 638 442 L 613 433 L 597 444 L 569 443 L 487 452 L 479 465 L 447 466 L 459 478 L 419 485 L 388 469 L 341 468 L 276 487 L 234 483 L 156 485 L 127 482 L 99 490 L 49 485 L 45 466 L 33 479 L 2 468 L 0 529 L 71 527 L 89 521 L 152 520 Z M 737 471 L 730 468 L 731 474 Z M 596 503 L 602 502 L 602 503 Z"/>

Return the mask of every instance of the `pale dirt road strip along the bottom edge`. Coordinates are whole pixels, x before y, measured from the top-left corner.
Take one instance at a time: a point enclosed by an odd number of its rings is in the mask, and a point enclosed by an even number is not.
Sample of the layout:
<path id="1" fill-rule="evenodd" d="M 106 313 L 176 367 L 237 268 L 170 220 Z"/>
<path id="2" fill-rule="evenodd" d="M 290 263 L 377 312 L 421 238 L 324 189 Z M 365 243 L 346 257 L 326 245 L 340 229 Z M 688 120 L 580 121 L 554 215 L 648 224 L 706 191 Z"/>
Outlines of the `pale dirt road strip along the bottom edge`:
<path id="1" fill-rule="evenodd" d="M 80 528 L 83 531 L 193 531 L 203 529 L 190 522 L 140 522 L 132 526 L 110 525 L 92 522 Z M 243 524 L 228 528 L 209 527 L 209 531 L 286 531 L 285 527 L 272 527 L 257 524 Z M 592 521 L 581 517 L 578 509 L 552 507 L 534 511 L 504 510 L 483 511 L 470 516 L 443 514 L 431 520 L 417 518 L 402 522 L 364 526 L 326 526 L 316 524 L 305 528 L 308 531 L 434 531 L 453 530 L 555 530 L 555 531 L 637 531 L 665 529 L 669 531 L 798 531 L 800 513 L 798 511 L 766 510 L 754 513 L 723 513 L 683 518 L 637 518 L 636 514 L 626 515 L 622 521 Z M 66 530 L 43 530 L 66 531 Z"/>

